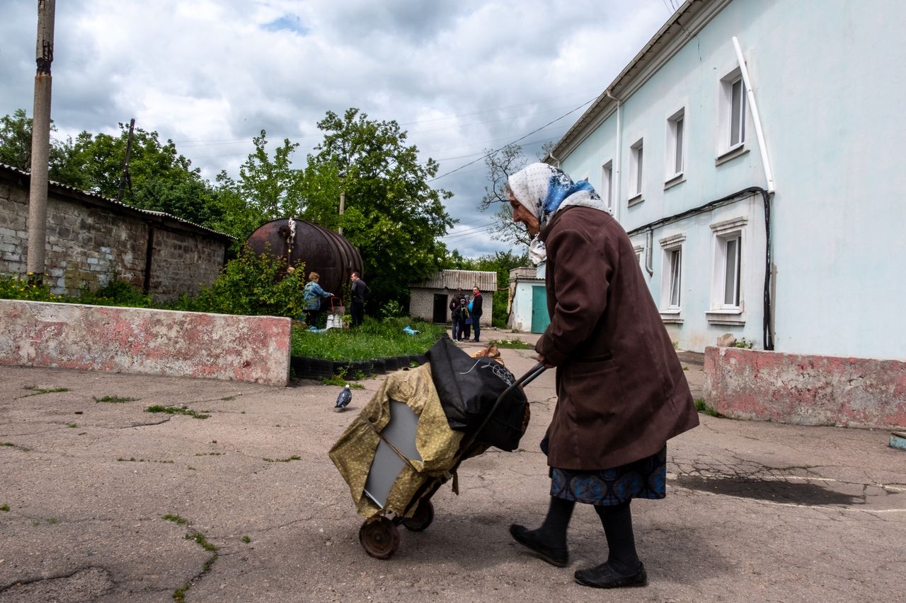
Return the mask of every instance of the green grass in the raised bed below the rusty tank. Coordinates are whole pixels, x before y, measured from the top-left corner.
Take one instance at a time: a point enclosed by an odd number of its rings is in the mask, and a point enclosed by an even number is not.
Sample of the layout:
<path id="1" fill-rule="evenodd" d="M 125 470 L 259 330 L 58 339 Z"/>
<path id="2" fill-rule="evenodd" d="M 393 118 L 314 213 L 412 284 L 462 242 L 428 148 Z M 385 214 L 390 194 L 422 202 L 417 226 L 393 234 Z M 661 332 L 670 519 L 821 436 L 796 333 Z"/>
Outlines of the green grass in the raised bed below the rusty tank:
<path id="1" fill-rule="evenodd" d="M 419 334 L 404 333 L 402 328 L 407 324 Z M 293 356 L 355 361 L 424 354 L 445 332 L 444 325 L 408 318 L 366 318 L 361 327 L 323 333 L 294 326 Z"/>

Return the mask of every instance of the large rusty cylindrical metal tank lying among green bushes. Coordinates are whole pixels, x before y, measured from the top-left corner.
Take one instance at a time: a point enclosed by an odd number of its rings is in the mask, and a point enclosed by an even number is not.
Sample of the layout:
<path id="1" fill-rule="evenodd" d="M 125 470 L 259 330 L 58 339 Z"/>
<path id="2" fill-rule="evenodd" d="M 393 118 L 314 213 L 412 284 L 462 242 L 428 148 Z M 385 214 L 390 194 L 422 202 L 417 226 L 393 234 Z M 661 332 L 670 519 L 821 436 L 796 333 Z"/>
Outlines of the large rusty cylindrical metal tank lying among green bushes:
<path id="1" fill-rule="evenodd" d="M 361 255 L 342 235 L 319 225 L 293 218 L 274 220 L 260 225 L 246 241 L 255 254 L 283 256 L 289 262 L 302 260 L 305 263 L 305 279 L 308 273 L 318 273 L 318 281 L 324 291 L 337 297 L 342 295 L 342 286 L 350 282 L 352 273 L 361 273 Z"/>

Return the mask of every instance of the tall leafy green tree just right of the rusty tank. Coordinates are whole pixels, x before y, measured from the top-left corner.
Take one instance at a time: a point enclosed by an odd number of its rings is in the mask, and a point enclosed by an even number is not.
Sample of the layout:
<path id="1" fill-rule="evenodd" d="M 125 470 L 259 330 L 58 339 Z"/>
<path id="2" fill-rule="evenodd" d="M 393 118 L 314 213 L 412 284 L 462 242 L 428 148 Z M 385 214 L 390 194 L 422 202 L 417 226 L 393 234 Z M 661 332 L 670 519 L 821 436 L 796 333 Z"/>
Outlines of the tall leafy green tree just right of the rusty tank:
<path id="1" fill-rule="evenodd" d="M 429 185 L 438 163 L 420 162 L 396 121 L 369 120 L 358 109 L 328 111 L 318 128 L 324 139 L 308 157 L 302 215 L 342 226 L 361 253 L 372 307 L 391 300 L 405 306 L 410 283 L 439 270 L 447 249 L 438 238 L 454 224 L 443 203 L 452 194 Z"/>

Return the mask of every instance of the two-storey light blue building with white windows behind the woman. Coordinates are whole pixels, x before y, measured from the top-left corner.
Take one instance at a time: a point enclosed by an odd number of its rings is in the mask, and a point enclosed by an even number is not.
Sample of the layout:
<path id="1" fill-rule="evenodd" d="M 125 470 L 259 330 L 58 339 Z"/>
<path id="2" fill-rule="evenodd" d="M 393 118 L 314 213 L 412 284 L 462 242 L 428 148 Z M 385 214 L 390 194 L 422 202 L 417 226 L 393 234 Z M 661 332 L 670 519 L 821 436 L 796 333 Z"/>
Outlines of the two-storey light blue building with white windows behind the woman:
<path id="1" fill-rule="evenodd" d="M 689 0 L 546 159 L 679 348 L 906 359 L 906 3 Z"/>

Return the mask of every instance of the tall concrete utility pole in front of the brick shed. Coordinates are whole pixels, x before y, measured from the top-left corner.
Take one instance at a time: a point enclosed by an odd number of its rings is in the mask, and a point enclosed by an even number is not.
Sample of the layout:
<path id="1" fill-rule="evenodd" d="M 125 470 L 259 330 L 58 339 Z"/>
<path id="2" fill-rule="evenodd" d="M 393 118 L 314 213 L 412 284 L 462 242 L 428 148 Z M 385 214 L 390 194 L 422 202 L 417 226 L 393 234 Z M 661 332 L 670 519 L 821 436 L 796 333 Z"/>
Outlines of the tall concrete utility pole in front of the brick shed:
<path id="1" fill-rule="evenodd" d="M 51 63 L 55 7 L 56 0 L 38 0 L 32 174 L 28 196 L 28 255 L 25 262 L 29 278 L 34 282 L 43 281 L 47 254 L 47 164 L 51 143 Z"/>

